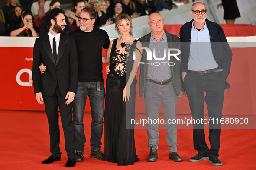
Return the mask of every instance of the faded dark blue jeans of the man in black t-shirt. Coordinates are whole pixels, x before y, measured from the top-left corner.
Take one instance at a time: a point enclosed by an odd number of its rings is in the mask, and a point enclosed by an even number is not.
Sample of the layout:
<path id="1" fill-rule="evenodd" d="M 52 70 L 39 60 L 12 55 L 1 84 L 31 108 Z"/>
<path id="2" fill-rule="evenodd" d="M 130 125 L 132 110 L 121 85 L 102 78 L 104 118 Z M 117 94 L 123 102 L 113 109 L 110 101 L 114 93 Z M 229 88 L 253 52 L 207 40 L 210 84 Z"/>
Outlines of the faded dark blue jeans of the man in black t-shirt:
<path id="1" fill-rule="evenodd" d="M 87 96 L 90 98 L 91 106 L 91 151 L 101 148 L 101 137 L 104 116 L 104 82 L 78 82 L 77 93 L 73 104 L 73 120 L 75 124 L 75 149 L 76 152 L 84 152 L 84 109 Z"/>

